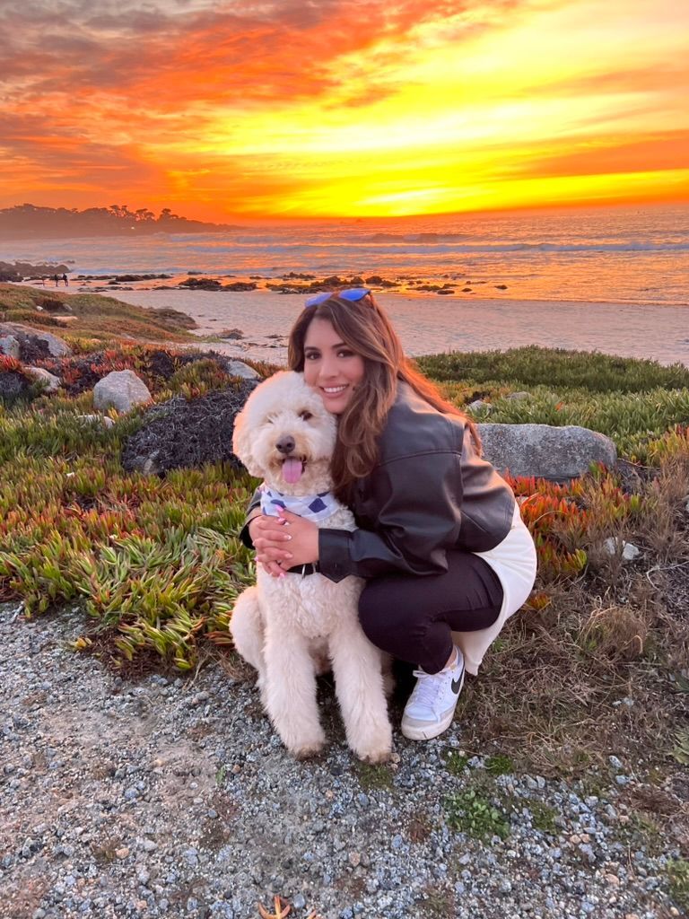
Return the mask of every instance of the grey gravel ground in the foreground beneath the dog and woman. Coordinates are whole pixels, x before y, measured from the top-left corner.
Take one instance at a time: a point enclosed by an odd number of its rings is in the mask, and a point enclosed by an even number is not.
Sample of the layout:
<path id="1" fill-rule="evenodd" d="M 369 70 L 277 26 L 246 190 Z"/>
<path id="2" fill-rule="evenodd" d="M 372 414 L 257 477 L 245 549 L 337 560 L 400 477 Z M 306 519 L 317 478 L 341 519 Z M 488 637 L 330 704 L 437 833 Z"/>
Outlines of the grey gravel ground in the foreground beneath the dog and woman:
<path id="1" fill-rule="evenodd" d="M 631 833 L 636 778 L 614 756 L 585 786 L 491 777 L 463 766 L 455 724 L 432 743 L 397 732 L 390 766 L 365 767 L 326 686 L 331 746 L 297 763 L 246 675 L 127 683 L 68 649 L 81 615 L 18 614 L 0 606 L 4 917 L 258 919 L 274 894 L 290 919 L 683 914 L 665 868 L 679 853 Z M 462 832 L 467 813 L 505 838 Z"/>

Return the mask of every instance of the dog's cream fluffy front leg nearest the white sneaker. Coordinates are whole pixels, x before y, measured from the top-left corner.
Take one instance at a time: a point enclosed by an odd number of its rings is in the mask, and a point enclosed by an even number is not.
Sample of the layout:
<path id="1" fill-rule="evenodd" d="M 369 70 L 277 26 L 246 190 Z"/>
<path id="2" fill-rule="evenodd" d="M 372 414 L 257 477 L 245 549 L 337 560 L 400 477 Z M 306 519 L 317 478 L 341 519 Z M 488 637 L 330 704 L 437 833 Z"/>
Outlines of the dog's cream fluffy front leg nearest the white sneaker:
<path id="1" fill-rule="evenodd" d="M 383 763 L 390 757 L 392 729 L 380 652 L 346 619 L 333 632 L 330 642 L 335 692 L 347 743 L 359 759 Z"/>

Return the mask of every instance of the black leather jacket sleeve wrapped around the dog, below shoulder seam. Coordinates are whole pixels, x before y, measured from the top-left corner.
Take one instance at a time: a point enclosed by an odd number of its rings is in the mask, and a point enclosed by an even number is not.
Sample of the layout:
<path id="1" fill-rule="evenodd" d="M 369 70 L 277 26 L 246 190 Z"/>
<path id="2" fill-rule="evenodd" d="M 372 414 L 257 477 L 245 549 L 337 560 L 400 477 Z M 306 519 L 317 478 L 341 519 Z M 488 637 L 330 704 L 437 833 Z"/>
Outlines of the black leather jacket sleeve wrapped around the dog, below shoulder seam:
<path id="1" fill-rule="evenodd" d="M 416 576 L 447 570 L 462 505 L 461 458 L 455 451 L 418 454 L 379 466 L 370 477 L 375 531 L 319 531 L 319 566 L 331 581 L 348 574 Z"/>

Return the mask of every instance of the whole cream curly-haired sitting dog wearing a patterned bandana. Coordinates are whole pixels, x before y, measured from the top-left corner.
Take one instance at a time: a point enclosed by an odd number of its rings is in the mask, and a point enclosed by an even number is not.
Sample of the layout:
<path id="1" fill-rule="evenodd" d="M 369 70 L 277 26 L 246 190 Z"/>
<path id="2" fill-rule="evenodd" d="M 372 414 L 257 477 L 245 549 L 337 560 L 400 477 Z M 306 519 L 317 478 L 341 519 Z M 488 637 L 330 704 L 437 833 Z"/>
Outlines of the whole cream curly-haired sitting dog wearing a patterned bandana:
<path id="1" fill-rule="evenodd" d="M 330 493 L 336 421 L 300 373 L 281 371 L 249 396 L 234 422 L 232 449 L 263 477 L 262 508 L 285 505 L 319 527 L 354 529 L 352 512 Z M 311 506 L 310 506 L 311 505 Z M 230 629 L 237 651 L 258 671 L 261 701 L 291 754 L 318 753 L 325 741 L 316 675 L 332 664 L 347 743 L 360 759 L 390 755 L 392 735 L 383 657 L 358 622 L 364 582 L 322 574 L 273 577 L 259 565 L 256 585 L 238 598 Z"/>

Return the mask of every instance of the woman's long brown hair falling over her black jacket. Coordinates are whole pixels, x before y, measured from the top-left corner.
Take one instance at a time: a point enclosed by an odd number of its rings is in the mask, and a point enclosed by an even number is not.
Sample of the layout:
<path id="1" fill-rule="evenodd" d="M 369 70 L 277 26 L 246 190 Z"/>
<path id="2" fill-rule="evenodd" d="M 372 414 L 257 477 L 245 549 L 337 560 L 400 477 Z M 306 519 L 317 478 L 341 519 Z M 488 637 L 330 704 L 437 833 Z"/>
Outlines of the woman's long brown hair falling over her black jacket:
<path id="1" fill-rule="evenodd" d="M 372 294 L 346 301 L 336 292 L 318 306 L 301 312 L 289 334 L 289 369 L 304 369 L 304 341 L 314 319 L 333 325 L 344 345 L 364 358 L 364 378 L 340 415 L 333 454 L 333 489 L 341 499 L 356 479 L 366 476 L 378 461 L 378 436 L 397 396 L 398 380 L 404 380 L 439 412 L 455 414 L 469 426 L 480 449 L 476 425 L 455 405 L 446 402 L 435 385 L 404 356 L 400 338 L 386 312 Z"/>

